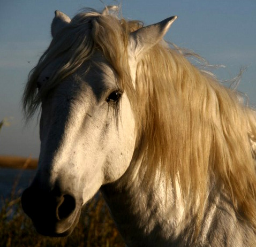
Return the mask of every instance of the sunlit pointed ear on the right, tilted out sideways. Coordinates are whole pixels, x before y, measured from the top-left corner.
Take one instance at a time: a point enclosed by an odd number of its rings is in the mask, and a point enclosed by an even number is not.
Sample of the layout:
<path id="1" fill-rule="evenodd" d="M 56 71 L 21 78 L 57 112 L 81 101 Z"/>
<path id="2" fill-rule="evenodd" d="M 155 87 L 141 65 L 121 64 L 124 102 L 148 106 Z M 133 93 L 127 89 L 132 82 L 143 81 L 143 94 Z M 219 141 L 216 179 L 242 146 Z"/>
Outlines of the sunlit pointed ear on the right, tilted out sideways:
<path id="1" fill-rule="evenodd" d="M 134 58 L 138 59 L 143 52 L 160 42 L 177 18 L 177 16 L 172 16 L 159 23 L 132 32 L 129 37 L 129 51 Z"/>

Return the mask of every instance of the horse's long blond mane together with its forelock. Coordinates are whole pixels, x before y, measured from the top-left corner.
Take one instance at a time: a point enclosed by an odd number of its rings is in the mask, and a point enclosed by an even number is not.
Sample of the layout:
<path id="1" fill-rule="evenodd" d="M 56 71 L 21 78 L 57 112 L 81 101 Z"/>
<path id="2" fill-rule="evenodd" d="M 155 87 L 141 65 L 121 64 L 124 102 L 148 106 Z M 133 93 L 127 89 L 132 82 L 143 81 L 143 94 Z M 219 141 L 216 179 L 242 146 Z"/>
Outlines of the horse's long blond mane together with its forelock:
<path id="1" fill-rule="evenodd" d="M 31 117 L 40 105 L 36 81 L 52 60 L 64 55 L 43 94 L 101 51 L 132 105 L 138 133 L 135 150 L 146 167 L 144 182 L 150 186 L 157 171 L 172 183 L 178 181 L 187 209 L 193 204 L 203 209 L 209 188 L 218 184 L 231 195 L 236 212 L 256 229 L 255 112 L 239 102 L 235 90 L 223 87 L 163 42 L 139 61 L 134 88 L 127 46 L 129 33 L 142 26 L 93 10 L 75 16 L 29 75 L 25 114 Z"/>

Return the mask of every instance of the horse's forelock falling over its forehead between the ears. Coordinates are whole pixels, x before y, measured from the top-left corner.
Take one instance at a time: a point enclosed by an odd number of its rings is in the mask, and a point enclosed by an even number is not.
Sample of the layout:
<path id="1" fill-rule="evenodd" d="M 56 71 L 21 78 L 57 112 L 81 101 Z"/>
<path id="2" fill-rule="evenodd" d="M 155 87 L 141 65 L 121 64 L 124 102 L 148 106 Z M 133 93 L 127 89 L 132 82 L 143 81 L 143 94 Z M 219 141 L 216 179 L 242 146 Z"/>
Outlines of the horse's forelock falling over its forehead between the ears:
<path id="1" fill-rule="evenodd" d="M 89 11 L 89 12 L 88 12 Z M 37 65 L 29 73 L 22 98 L 27 120 L 40 105 L 36 82 L 42 71 L 55 59 L 62 57 L 55 73 L 49 78 L 46 87 L 41 89 L 41 97 L 57 86 L 59 82 L 74 73 L 95 52 L 100 51 L 119 76 L 120 87 L 133 97 L 126 48 L 129 33 L 142 26 L 140 21 L 125 21 L 114 14 L 102 14 L 93 9 L 77 14 L 68 26 L 52 39 Z M 108 41 L 108 42 L 106 42 Z M 125 82 L 125 83 L 124 83 Z"/>

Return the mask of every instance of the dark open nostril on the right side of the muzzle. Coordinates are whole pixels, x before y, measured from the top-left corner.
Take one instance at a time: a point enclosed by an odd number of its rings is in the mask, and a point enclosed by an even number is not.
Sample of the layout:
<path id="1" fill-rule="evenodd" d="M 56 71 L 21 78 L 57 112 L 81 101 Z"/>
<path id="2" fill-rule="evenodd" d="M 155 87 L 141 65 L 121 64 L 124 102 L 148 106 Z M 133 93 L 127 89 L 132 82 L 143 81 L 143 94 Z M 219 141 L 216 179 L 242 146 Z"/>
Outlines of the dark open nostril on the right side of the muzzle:
<path id="1" fill-rule="evenodd" d="M 61 202 L 57 206 L 56 216 L 59 220 L 69 217 L 76 209 L 76 200 L 71 195 L 63 195 Z"/>

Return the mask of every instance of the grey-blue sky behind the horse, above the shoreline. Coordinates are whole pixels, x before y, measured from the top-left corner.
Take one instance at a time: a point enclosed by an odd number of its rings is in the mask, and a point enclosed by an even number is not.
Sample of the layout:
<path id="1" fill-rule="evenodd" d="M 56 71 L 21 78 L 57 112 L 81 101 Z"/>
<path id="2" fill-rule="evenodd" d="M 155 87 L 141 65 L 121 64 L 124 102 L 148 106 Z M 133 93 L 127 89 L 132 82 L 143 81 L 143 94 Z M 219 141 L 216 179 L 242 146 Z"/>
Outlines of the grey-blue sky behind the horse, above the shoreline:
<path id="1" fill-rule="evenodd" d="M 102 10 L 119 1 L 0 0 L 0 155 L 38 157 L 39 118 L 25 125 L 21 97 L 29 71 L 50 41 L 54 11 L 73 17 L 84 7 Z M 179 18 L 165 40 L 189 48 L 212 65 L 220 80 L 234 78 L 246 67 L 238 90 L 256 105 L 256 1 L 255 0 L 122 0 L 126 19 L 146 25 L 170 16 Z"/>

